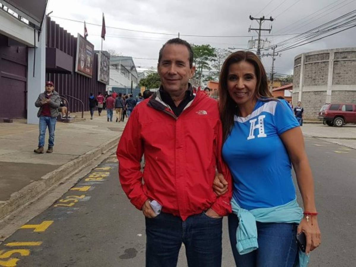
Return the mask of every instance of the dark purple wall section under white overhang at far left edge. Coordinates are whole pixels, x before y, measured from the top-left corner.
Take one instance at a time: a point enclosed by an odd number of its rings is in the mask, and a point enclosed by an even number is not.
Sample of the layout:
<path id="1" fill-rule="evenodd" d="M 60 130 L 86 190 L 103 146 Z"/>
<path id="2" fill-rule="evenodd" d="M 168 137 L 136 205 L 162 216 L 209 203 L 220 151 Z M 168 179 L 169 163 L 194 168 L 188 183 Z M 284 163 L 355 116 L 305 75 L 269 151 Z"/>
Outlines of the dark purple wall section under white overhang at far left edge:
<path id="1" fill-rule="evenodd" d="M 26 118 L 27 47 L 0 34 L 0 118 Z"/>

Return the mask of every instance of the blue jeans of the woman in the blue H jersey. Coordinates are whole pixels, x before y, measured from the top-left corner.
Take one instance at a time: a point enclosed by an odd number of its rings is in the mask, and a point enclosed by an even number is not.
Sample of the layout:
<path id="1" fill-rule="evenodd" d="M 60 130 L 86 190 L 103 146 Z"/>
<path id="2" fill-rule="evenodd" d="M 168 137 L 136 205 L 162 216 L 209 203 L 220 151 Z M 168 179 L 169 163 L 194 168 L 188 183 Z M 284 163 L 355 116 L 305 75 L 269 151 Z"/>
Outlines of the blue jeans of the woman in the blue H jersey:
<path id="1" fill-rule="evenodd" d="M 229 215 L 229 235 L 236 266 L 293 267 L 298 261 L 297 224 L 260 223 L 257 221 L 258 249 L 240 255 L 236 249 L 236 229 L 239 219 Z"/>

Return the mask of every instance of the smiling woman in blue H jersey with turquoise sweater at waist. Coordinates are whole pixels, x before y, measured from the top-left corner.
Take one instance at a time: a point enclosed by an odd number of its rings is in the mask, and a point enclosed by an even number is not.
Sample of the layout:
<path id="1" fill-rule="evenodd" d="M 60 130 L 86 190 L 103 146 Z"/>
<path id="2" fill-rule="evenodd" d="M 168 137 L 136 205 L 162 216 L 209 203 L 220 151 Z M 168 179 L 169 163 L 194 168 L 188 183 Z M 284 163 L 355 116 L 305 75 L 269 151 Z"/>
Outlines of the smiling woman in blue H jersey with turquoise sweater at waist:
<path id="1" fill-rule="evenodd" d="M 296 235 L 307 237 L 306 252 L 320 245 L 312 171 L 299 123 L 285 100 L 268 90 L 266 71 L 252 52 L 224 62 L 219 106 L 223 157 L 234 179 L 229 235 L 236 266 L 307 266 Z M 294 167 L 304 212 L 296 201 Z M 225 191 L 217 176 L 214 189 Z"/>

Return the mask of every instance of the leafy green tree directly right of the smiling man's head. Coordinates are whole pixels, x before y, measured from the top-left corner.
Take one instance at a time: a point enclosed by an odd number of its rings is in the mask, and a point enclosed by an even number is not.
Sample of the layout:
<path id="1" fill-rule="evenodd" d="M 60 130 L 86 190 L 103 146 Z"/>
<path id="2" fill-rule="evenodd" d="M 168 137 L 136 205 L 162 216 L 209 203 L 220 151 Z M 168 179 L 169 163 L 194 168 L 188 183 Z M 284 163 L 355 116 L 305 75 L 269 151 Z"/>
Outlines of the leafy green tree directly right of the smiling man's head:
<path id="1" fill-rule="evenodd" d="M 203 70 L 211 70 L 210 63 L 215 61 L 215 48 L 210 44 L 195 45 L 192 44 L 194 52 L 194 64 L 195 64 L 195 83 L 201 85 L 201 76 Z"/>

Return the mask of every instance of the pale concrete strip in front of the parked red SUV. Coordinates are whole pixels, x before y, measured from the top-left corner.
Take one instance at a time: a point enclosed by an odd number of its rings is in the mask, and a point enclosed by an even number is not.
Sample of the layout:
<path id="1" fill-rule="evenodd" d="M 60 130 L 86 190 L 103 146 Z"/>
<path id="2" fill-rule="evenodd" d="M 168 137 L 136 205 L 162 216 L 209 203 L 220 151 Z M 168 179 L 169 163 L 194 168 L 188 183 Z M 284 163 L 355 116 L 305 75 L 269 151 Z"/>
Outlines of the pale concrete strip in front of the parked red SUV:
<path id="1" fill-rule="evenodd" d="M 346 124 L 342 127 L 330 127 L 305 123 L 302 126 L 304 136 L 320 138 L 325 141 L 356 149 L 356 124 Z"/>

